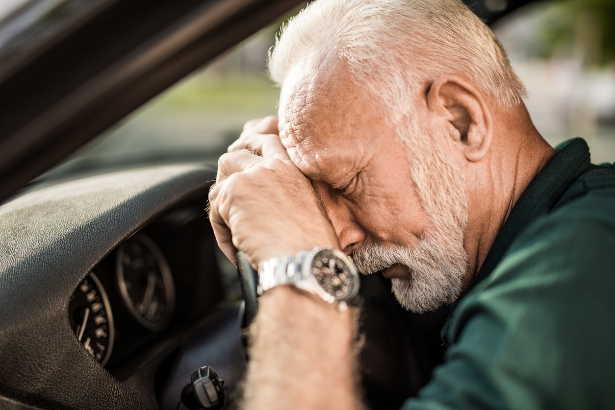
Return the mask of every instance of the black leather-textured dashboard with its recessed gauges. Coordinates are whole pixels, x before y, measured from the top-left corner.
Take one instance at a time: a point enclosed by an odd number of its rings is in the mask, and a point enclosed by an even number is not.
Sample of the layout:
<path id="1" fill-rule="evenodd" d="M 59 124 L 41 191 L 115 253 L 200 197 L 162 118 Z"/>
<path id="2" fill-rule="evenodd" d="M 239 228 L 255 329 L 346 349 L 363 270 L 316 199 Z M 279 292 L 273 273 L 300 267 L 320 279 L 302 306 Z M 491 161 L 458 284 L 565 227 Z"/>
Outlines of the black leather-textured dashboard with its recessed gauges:
<path id="1" fill-rule="evenodd" d="M 0 206 L 0 408 L 175 409 L 189 372 L 226 377 L 216 358 L 245 360 L 201 354 L 241 347 L 204 211 L 214 178 L 202 164 L 135 168 Z M 228 332 L 207 328 L 216 317 Z"/>

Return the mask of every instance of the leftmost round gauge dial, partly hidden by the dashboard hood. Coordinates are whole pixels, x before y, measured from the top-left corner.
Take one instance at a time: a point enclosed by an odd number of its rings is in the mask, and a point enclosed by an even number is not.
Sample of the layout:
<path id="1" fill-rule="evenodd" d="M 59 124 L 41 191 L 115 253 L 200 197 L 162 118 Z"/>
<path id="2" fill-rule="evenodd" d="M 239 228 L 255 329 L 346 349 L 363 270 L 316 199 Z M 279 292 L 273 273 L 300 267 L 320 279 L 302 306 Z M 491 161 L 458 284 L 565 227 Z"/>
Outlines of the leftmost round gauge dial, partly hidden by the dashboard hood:
<path id="1" fill-rule="evenodd" d="M 68 304 L 68 317 L 77 339 L 104 366 L 113 349 L 113 313 L 95 274 L 90 273 L 77 286 Z"/>

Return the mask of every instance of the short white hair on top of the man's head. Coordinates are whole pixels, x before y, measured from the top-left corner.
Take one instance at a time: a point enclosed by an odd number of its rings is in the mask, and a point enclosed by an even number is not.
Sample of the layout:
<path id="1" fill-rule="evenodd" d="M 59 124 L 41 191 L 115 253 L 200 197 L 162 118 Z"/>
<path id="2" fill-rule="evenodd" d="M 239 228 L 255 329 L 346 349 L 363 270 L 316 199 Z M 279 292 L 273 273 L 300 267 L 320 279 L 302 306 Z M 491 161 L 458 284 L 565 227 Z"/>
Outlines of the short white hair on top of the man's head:
<path id="1" fill-rule="evenodd" d="M 416 93 L 445 73 L 469 77 L 502 106 L 526 95 L 496 36 L 459 0 L 314 1 L 282 27 L 269 51 L 271 78 L 282 85 L 319 50 L 337 53 L 392 117 L 408 115 Z"/>

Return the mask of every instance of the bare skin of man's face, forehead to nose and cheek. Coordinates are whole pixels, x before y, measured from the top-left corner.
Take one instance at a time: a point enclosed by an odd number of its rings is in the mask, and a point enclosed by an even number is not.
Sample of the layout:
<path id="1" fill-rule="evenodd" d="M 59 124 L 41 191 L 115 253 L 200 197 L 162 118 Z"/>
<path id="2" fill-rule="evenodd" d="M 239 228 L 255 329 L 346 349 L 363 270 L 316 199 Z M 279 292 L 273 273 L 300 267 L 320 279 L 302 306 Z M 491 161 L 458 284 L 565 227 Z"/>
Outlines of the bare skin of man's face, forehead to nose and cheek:
<path id="1" fill-rule="evenodd" d="M 426 217 L 394 124 L 348 78 L 312 73 L 293 71 L 282 88 L 280 140 L 322 198 L 341 248 L 351 254 L 366 241 L 412 245 Z M 328 98 L 336 95 L 343 101 Z"/>

